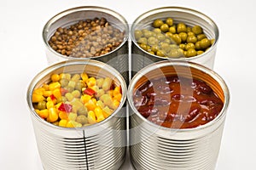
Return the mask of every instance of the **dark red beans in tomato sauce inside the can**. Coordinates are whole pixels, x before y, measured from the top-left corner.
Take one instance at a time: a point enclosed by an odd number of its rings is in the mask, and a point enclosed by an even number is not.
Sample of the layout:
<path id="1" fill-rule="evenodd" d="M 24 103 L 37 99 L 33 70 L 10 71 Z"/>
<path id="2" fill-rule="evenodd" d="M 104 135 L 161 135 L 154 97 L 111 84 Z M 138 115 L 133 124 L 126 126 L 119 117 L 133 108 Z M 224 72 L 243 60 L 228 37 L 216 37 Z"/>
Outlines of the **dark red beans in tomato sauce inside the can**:
<path id="1" fill-rule="evenodd" d="M 137 111 L 163 127 L 192 128 L 211 122 L 223 108 L 206 82 L 166 76 L 144 82 L 133 94 Z"/>

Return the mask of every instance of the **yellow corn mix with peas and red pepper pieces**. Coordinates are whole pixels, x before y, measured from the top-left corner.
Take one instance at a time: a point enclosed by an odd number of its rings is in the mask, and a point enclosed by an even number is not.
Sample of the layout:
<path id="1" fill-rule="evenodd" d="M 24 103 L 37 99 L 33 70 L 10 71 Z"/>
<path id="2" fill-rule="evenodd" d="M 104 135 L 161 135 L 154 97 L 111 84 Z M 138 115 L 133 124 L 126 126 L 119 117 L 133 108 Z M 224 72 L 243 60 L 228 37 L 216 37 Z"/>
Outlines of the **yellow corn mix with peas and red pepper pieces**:
<path id="1" fill-rule="evenodd" d="M 110 77 L 53 74 L 49 83 L 34 89 L 38 116 L 60 127 L 83 127 L 102 122 L 119 107 L 122 92 Z"/>

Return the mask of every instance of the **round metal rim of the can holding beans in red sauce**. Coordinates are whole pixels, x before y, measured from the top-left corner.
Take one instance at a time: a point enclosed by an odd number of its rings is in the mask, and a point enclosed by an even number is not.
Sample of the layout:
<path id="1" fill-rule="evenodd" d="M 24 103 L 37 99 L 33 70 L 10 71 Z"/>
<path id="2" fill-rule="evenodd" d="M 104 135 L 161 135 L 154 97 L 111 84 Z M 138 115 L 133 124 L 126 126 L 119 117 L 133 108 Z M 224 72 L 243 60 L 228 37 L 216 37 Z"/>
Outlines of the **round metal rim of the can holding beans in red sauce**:
<path id="1" fill-rule="evenodd" d="M 160 68 L 163 66 L 184 66 L 184 67 L 193 67 L 196 70 L 202 71 L 204 73 L 206 73 L 207 75 L 209 75 L 210 77 L 214 78 L 220 85 L 220 87 L 223 89 L 224 91 L 224 106 L 222 108 L 222 110 L 220 111 L 220 114 L 218 114 L 217 117 L 215 117 L 211 122 L 207 122 L 204 125 L 198 126 L 198 127 L 192 127 L 192 128 L 169 128 L 169 127 L 162 127 L 160 125 L 155 124 L 154 122 L 149 122 L 148 119 L 146 119 L 144 116 L 142 116 L 136 109 L 136 107 L 133 104 L 133 93 L 132 90 L 136 84 L 136 82 L 143 77 L 143 75 L 145 75 L 146 73 L 148 73 L 149 71 L 154 71 L 155 68 Z M 215 124 L 216 122 L 218 122 L 218 120 L 222 119 L 225 114 L 226 114 L 226 110 L 228 109 L 229 105 L 230 105 L 230 91 L 229 88 L 227 86 L 227 84 L 224 82 L 224 79 L 222 77 L 220 77 L 218 75 L 217 72 L 212 71 L 210 69 L 208 69 L 206 66 L 204 65 L 199 65 L 196 63 L 192 63 L 192 62 L 184 62 L 184 61 L 168 61 L 168 60 L 162 60 L 159 62 L 156 62 L 154 64 L 148 65 L 146 67 L 144 67 L 141 71 L 138 71 L 137 74 L 132 77 L 131 82 L 129 84 L 128 90 L 127 90 L 127 100 L 129 102 L 129 105 L 131 107 L 131 110 L 134 112 L 134 114 L 136 114 L 137 116 L 139 116 L 140 119 L 143 120 L 143 122 L 148 123 L 150 126 L 153 126 L 157 129 L 160 130 L 164 130 L 164 131 L 168 131 L 170 132 L 170 130 L 176 131 L 177 133 L 183 133 L 183 132 L 191 132 L 191 131 L 199 131 L 201 129 L 205 129 L 207 127 L 211 127 L 212 124 Z"/>

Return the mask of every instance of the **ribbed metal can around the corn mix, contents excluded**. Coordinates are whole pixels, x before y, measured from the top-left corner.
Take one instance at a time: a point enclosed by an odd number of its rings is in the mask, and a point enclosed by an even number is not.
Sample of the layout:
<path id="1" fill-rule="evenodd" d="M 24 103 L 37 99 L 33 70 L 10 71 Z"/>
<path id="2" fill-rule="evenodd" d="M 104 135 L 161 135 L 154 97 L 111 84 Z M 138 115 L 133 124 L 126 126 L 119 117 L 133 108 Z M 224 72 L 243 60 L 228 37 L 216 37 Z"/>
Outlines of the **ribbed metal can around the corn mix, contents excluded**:
<path id="1" fill-rule="evenodd" d="M 46 122 L 34 111 L 32 91 L 50 81 L 53 73 L 81 73 L 110 77 L 121 87 L 119 107 L 102 122 L 86 127 L 59 127 Z M 126 83 L 110 65 L 92 59 L 62 61 L 33 78 L 26 95 L 38 152 L 44 169 L 119 169 L 126 153 Z"/>

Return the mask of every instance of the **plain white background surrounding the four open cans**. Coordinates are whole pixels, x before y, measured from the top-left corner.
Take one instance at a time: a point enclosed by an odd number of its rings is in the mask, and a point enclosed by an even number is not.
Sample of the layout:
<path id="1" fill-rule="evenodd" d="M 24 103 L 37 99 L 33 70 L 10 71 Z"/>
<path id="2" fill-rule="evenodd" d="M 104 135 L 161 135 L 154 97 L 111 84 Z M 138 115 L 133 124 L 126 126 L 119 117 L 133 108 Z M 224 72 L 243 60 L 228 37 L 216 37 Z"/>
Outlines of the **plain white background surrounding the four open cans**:
<path id="1" fill-rule="evenodd" d="M 132 23 L 152 8 L 195 8 L 214 20 L 220 37 L 214 70 L 230 88 L 231 101 L 218 156 L 217 170 L 255 169 L 256 20 L 254 0 L 22 0 L 0 5 L 0 168 L 42 169 L 26 90 L 48 66 L 43 26 L 53 15 L 81 5 L 107 7 Z M 122 168 L 128 170 L 129 163 Z"/>

